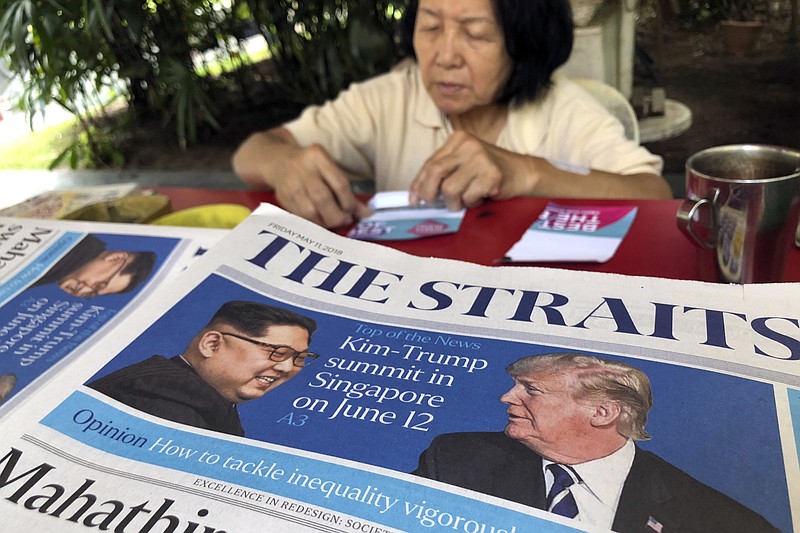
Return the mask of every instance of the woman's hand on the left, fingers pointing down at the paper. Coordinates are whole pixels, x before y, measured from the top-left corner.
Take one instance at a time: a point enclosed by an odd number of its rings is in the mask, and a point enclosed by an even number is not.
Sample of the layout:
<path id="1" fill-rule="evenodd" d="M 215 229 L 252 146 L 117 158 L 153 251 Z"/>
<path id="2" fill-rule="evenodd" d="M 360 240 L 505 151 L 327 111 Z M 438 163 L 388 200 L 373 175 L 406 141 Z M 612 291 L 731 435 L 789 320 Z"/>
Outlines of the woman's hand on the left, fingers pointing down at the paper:
<path id="1" fill-rule="evenodd" d="M 284 209 L 326 228 L 369 214 L 330 154 L 319 145 L 299 146 L 283 128 L 248 138 L 234 154 L 233 166 L 249 185 L 275 191 Z"/>

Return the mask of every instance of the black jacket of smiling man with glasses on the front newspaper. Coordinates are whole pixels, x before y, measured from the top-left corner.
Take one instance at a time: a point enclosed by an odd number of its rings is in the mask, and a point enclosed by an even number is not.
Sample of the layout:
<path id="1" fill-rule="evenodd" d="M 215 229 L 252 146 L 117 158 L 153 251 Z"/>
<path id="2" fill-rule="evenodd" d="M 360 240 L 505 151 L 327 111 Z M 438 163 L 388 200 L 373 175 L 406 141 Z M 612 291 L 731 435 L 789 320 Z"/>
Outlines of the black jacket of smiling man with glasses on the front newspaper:
<path id="1" fill-rule="evenodd" d="M 180 357 L 154 355 L 87 385 L 139 411 L 198 428 L 243 436 L 236 407 Z"/>

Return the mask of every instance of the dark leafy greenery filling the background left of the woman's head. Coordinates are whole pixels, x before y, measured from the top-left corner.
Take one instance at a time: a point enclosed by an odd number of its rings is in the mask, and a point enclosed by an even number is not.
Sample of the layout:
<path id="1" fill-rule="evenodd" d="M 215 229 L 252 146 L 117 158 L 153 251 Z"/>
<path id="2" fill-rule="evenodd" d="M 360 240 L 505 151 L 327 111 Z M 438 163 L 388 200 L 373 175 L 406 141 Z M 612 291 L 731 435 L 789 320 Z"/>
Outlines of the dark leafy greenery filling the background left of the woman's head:
<path id="1" fill-rule="evenodd" d="M 0 63 L 17 81 L 5 98 L 31 129 L 53 104 L 74 115 L 77 125 L 36 133 L 38 144 L 58 150 L 48 165 L 120 166 L 119 132 L 137 121 L 157 120 L 186 148 L 220 117 L 246 112 L 260 84 L 302 105 L 387 70 L 400 57 L 395 35 L 405 5 L 0 0 Z M 266 74 L 253 68 L 265 59 Z M 37 157 L 20 141 L 4 147 L 6 168 L 13 160 L 30 167 Z"/>

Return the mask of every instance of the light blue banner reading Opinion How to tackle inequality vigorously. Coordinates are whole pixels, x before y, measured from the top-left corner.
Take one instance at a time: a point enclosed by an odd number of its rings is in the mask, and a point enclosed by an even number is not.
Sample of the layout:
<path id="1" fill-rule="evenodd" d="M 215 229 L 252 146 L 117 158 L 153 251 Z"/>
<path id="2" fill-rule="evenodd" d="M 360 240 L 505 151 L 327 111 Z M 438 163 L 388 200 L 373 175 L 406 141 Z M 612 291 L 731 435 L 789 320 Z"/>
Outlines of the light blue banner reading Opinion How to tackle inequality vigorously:
<path id="1" fill-rule="evenodd" d="M 42 423 L 119 457 L 235 483 L 404 531 L 455 521 L 465 531 L 574 531 L 389 475 L 167 428 L 82 392 L 73 393 Z"/>

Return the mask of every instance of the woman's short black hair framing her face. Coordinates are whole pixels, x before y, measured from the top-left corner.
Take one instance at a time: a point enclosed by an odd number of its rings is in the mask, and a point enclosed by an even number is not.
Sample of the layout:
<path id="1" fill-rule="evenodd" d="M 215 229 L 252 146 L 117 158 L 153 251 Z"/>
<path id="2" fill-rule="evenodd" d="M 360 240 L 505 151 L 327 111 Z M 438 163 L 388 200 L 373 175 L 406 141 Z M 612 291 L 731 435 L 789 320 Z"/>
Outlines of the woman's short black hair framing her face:
<path id="1" fill-rule="evenodd" d="M 553 72 L 572 53 L 573 24 L 569 0 L 492 0 L 514 65 L 497 99 L 499 104 L 532 102 L 550 86 Z M 401 25 L 400 44 L 416 59 L 414 25 L 419 0 L 411 0 Z"/>

